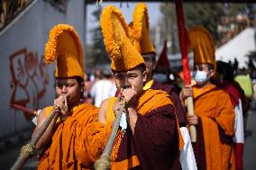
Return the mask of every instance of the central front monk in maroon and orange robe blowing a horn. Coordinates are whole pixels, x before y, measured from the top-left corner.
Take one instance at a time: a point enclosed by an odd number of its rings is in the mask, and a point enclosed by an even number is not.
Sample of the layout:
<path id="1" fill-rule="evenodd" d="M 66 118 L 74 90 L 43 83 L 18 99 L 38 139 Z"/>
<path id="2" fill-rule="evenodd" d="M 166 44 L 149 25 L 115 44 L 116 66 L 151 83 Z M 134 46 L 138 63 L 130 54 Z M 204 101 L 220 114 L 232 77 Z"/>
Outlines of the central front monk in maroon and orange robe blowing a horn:
<path id="1" fill-rule="evenodd" d="M 119 9 L 105 7 L 101 27 L 120 93 L 101 103 L 98 121 L 111 126 L 125 101 L 111 155 L 112 169 L 180 169 L 182 138 L 169 94 L 142 89 L 147 78 L 144 59 L 129 40 L 128 26 Z"/>

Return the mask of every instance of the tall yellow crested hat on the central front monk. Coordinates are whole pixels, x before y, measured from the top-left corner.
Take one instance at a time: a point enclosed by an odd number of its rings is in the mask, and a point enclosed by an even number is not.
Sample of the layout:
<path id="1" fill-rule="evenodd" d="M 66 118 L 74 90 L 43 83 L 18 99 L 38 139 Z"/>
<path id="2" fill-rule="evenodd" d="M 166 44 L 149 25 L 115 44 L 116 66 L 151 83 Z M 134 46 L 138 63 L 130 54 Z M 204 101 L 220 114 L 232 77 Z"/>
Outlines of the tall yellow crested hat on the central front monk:
<path id="1" fill-rule="evenodd" d="M 100 22 L 105 50 L 112 60 L 112 70 L 128 71 L 144 65 L 142 55 L 133 47 L 127 23 L 118 8 L 113 5 L 106 6 L 101 13 Z"/>

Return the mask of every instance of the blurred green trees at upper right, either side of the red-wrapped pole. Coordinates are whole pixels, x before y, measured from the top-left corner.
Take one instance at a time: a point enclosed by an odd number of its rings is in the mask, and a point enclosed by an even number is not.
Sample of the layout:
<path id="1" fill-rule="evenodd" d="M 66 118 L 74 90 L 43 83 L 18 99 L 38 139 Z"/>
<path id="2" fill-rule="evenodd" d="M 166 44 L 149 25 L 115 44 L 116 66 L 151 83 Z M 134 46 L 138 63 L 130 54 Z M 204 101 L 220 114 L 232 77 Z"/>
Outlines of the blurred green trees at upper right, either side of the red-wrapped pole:
<path id="1" fill-rule="evenodd" d="M 247 14 L 251 18 L 253 16 L 253 4 L 185 3 L 183 10 L 186 28 L 189 29 L 196 25 L 203 26 L 210 31 L 215 42 L 223 38 L 223 35 L 217 32 L 217 26 L 223 16 L 235 17 L 237 14 Z M 179 52 L 175 4 L 161 4 L 160 12 L 163 16 L 160 21 L 161 40 L 170 37 L 173 46 L 171 53 Z M 169 25 L 168 28 L 165 26 L 166 22 Z M 175 38 L 175 42 L 171 38 Z"/>

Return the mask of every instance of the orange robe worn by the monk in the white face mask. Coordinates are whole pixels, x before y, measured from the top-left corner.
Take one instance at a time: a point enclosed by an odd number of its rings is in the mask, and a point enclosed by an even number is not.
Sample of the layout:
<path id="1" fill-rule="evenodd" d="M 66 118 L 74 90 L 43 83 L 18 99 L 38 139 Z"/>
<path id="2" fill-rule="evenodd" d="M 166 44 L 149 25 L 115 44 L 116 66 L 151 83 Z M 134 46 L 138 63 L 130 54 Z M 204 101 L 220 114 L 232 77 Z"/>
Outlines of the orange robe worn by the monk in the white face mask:
<path id="1" fill-rule="evenodd" d="M 234 112 L 229 94 L 209 85 L 193 87 L 195 114 L 201 119 L 207 170 L 235 169 L 233 155 Z"/>

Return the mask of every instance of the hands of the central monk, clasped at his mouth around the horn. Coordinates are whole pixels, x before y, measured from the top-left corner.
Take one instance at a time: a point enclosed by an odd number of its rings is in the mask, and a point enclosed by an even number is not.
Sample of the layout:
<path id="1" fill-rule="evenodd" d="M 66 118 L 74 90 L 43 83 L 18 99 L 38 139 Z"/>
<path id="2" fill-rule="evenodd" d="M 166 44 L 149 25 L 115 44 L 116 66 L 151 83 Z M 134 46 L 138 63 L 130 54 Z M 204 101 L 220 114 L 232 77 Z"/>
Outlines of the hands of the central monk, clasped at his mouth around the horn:
<path id="1" fill-rule="evenodd" d="M 136 97 L 137 97 L 137 92 L 133 88 L 125 88 L 125 89 L 123 89 L 121 94 L 125 101 L 125 107 L 133 108 Z"/>

